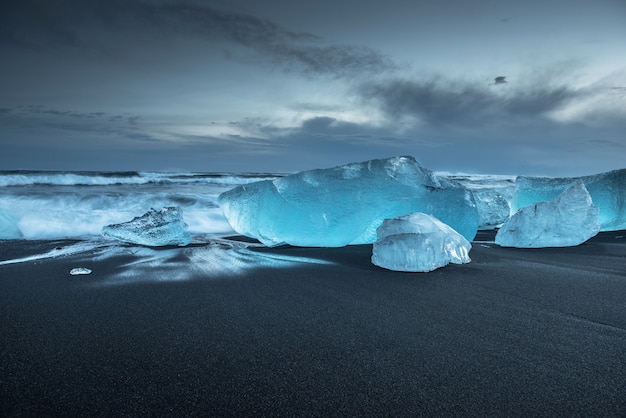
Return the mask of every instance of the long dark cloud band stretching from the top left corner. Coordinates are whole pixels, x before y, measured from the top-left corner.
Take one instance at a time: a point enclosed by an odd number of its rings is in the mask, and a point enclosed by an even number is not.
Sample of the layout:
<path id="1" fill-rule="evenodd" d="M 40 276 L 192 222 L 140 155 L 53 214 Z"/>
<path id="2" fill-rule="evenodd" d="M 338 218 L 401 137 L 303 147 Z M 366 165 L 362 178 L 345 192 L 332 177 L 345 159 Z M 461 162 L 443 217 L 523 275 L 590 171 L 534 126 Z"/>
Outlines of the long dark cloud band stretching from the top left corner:
<path id="1" fill-rule="evenodd" d="M 389 58 L 371 48 L 328 45 L 310 33 L 192 0 L 9 1 L 0 15 L 0 27 L 0 42 L 20 47 L 92 47 L 106 44 L 108 36 L 121 31 L 130 40 L 134 35 L 145 41 L 148 34 L 150 43 L 184 36 L 242 46 L 275 67 L 310 75 L 345 76 L 395 68 Z"/>

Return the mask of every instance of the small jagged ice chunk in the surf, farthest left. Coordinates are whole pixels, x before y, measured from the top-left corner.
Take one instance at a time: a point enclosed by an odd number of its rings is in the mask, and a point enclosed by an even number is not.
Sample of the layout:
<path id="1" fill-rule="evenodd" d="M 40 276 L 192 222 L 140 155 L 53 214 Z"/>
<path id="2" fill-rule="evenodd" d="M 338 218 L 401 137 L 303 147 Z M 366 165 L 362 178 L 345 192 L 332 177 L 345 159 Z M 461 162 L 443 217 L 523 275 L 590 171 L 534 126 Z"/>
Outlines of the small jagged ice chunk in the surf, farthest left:
<path id="1" fill-rule="evenodd" d="M 149 247 L 185 246 L 191 242 L 182 211 L 175 206 L 161 210 L 151 208 L 132 221 L 107 225 L 102 228 L 102 235 Z"/>

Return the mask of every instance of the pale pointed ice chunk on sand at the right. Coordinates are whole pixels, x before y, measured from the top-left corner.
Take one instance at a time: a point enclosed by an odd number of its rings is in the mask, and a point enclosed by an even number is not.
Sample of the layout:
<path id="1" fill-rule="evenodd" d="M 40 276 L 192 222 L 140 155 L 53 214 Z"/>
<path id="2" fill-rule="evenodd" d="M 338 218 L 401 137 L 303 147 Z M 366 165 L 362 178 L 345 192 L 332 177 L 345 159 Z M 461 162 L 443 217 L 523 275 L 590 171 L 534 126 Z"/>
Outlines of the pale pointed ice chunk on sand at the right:
<path id="1" fill-rule="evenodd" d="M 503 247 L 568 247 L 582 244 L 600 230 L 598 207 L 582 180 L 555 200 L 517 211 L 496 234 Z"/>

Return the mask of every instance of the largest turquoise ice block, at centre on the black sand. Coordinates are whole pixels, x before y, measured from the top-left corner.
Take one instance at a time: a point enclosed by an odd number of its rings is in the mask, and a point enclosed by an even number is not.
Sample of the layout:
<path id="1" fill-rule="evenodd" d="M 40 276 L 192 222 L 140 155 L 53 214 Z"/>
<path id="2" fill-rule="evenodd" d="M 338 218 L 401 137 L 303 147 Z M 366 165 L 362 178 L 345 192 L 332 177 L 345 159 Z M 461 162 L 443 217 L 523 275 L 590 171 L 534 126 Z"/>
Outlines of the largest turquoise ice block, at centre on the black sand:
<path id="1" fill-rule="evenodd" d="M 436 216 L 468 240 L 478 212 L 472 194 L 438 178 L 412 157 L 304 171 L 238 186 L 218 197 L 240 234 L 268 246 L 340 247 L 373 243 L 384 219 L 412 212 Z"/>

